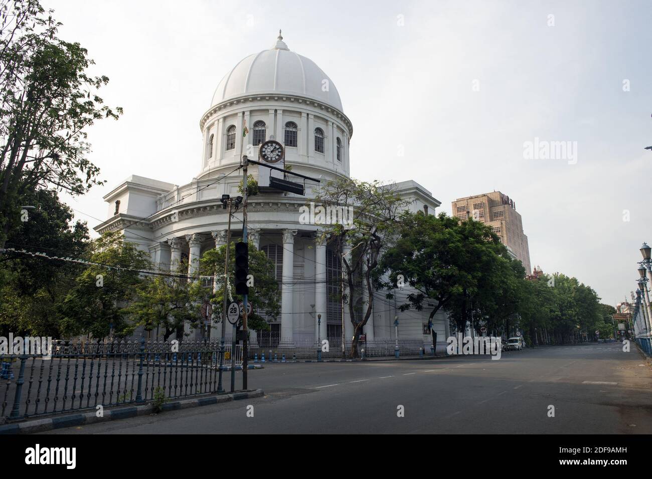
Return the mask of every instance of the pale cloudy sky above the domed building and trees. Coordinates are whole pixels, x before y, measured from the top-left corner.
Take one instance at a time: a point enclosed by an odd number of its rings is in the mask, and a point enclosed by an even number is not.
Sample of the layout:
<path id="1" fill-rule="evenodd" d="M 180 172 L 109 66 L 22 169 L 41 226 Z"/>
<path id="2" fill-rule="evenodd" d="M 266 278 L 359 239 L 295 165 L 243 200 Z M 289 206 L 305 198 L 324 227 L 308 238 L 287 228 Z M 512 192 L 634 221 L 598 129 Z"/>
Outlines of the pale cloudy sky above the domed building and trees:
<path id="1" fill-rule="evenodd" d="M 218 82 L 282 29 L 340 93 L 351 176 L 413 179 L 449 214 L 458 197 L 499 190 L 533 266 L 607 304 L 636 287 L 638 249 L 652 243 L 652 0 L 43 5 L 110 78 L 100 96 L 125 109 L 88 130 L 106 185 L 63 196 L 90 228 L 129 175 L 181 185 L 200 172 L 199 121 Z M 540 150 L 554 142 L 565 154 Z"/>

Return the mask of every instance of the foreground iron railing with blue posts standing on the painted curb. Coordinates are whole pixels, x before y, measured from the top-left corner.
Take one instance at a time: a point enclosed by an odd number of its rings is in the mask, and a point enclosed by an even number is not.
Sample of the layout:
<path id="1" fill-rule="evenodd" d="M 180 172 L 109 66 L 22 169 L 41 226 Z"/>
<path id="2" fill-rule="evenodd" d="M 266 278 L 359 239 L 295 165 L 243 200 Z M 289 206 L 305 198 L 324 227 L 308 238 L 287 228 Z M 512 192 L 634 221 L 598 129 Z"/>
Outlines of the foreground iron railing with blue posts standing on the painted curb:
<path id="1" fill-rule="evenodd" d="M 0 355 L 0 418 L 183 398 L 218 390 L 217 341 L 73 341 L 42 355 Z"/>

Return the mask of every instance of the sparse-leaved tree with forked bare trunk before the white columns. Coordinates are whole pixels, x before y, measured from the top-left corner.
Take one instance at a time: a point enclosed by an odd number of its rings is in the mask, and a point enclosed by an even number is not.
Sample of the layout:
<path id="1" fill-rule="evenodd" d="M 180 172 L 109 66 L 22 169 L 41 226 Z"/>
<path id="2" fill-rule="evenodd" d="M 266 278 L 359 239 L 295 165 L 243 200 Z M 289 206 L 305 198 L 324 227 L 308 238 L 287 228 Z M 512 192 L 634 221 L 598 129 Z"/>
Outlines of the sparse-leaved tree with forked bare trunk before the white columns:
<path id="1" fill-rule="evenodd" d="M 411 201 L 402 199 L 391 185 L 342 178 L 326 182 L 316 192 L 316 202 L 321 202 L 323 207 L 318 208 L 324 210 L 321 238 L 329 238 L 338 250 L 341 250 L 345 242 L 351 246 L 351 255 L 342 256 L 342 265 L 346 274 L 348 307 L 353 324 L 351 357 L 356 357 L 360 334 L 374 308 L 374 278 L 378 277 L 381 252 L 396 237 L 396 229 L 400 225 L 399 215 Z M 341 214 L 349 207 L 353 209 L 353 217 L 348 218 L 346 224 L 342 220 L 333 221 L 333 211 Z M 331 212 L 331 218 L 327 219 L 325 216 L 328 212 Z M 315 213 L 317 218 L 320 213 Z M 344 214 L 340 218 L 342 216 Z M 368 302 L 363 304 L 364 311 L 359 314 L 355 300 L 363 290 L 366 290 Z"/>

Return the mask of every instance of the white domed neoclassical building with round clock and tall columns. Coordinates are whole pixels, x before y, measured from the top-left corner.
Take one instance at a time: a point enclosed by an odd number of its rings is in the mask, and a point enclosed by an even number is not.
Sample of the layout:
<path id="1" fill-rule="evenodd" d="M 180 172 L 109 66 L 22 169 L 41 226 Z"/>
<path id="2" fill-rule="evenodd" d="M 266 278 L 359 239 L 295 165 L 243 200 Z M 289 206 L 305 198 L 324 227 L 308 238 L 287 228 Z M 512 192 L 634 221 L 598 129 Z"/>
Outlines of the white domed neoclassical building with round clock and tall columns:
<path id="1" fill-rule="evenodd" d="M 248 127 L 244 137 L 243 124 Z M 188 257 L 192 274 L 205 250 L 226 244 L 228 213 L 220 198 L 240 195 L 241 158 L 247 154 L 257 159 L 258 145 L 265 140 L 284 144 L 286 167 L 295 173 L 321 181 L 349 177 L 353 124 L 340 95 L 316 63 L 289 50 L 280 33 L 272 48 L 245 57 L 222 78 L 199 126 L 203 149 L 196 177 L 179 186 L 132 175 L 104 196 L 110 218 L 95 227 L 99 233 L 123 229 L 126 240 L 149 252 L 161 269 L 174 269 Z M 258 177 L 259 169 L 263 167 L 250 165 L 249 173 Z M 441 204 L 417 182 L 395 186 L 402 197 L 413 200 L 410 209 L 434 213 Z M 332 299 L 342 276 L 342 252 L 316 241 L 317 225 L 299 222 L 299 208 L 310 201 L 318 183 L 305 181 L 304 187 L 305 196 L 261 190 L 248 200 L 248 240 L 274 261 L 282 290 L 280 316 L 270 319 L 271 332 L 252 332 L 253 344 L 261 338 L 291 345 L 314 341 L 318 335 L 342 337 L 342 305 Z M 241 227 L 240 222 L 231 222 L 232 240 L 239 240 Z M 398 296 L 396 304 L 401 302 Z M 384 294 L 374 298 L 374 314 L 364 328 L 366 340 L 393 341 L 396 315 L 399 338 L 420 340 L 429 350 L 427 313 L 401 313 Z M 344 316 L 346 337 L 351 338 L 348 308 Z M 443 313 L 437 313 L 434 325 L 437 349 L 443 351 L 449 336 Z M 220 327 L 213 325 L 212 337 L 220 336 Z"/>

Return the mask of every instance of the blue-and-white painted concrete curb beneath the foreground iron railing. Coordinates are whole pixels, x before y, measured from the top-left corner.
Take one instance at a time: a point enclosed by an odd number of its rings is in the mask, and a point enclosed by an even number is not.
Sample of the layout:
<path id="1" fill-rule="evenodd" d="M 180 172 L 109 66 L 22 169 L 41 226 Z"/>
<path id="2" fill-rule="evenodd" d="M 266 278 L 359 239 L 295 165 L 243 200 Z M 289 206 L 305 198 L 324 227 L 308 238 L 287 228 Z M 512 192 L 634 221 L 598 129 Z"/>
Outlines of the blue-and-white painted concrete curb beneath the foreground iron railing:
<path id="1" fill-rule="evenodd" d="M 213 404 L 227 403 L 238 401 L 239 399 L 260 398 L 265 392 L 262 389 L 235 392 L 233 394 L 222 394 L 215 396 L 206 396 L 205 398 L 183 399 L 181 401 L 170 401 L 163 405 L 163 412 L 176 411 L 177 409 L 186 409 L 188 407 L 207 406 Z M 52 429 L 70 428 L 71 426 L 84 426 L 85 424 L 95 424 L 96 422 L 113 421 L 116 419 L 132 418 L 136 416 L 147 416 L 152 414 L 153 407 L 151 404 L 145 404 L 132 407 L 121 407 L 119 409 L 110 409 L 104 411 L 104 416 L 98 418 L 95 411 L 91 413 L 70 414 L 68 416 L 27 420 L 6 424 L 0 426 L 0 434 L 31 434 L 43 431 L 52 431 Z"/>

